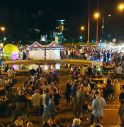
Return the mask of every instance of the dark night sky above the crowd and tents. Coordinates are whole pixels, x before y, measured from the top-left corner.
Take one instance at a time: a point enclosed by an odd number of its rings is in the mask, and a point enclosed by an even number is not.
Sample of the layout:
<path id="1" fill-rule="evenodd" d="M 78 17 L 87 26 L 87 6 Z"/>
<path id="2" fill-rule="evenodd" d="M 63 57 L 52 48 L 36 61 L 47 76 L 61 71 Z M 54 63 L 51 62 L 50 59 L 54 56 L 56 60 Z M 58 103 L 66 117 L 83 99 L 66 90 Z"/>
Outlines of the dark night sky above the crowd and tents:
<path id="1" fill-rule="evenodd" d="M 6 34 L 17 40 L 28 38 L 32 29 L 40 34 L 55 30 L 56 20 L 65 19 L 65 37 L 78 38 L 80 26 L 85 25 L 87 33 L 88 0 L 1 0 L 0 25 L 6 27 Z M 99 0 L 101 11 L 100 28 L 104 15 L 106 34 L 121 37 L 124 34 L 124 13 L 116 11 L 117 0 Z M 97 0 L 91 0 L 91 35 L 94 38 L 95 21 L 93 12 Z M 107 15 L 111 14 L 111 17 Z M 101 31 L 101 30 L 100 30 Z"/>

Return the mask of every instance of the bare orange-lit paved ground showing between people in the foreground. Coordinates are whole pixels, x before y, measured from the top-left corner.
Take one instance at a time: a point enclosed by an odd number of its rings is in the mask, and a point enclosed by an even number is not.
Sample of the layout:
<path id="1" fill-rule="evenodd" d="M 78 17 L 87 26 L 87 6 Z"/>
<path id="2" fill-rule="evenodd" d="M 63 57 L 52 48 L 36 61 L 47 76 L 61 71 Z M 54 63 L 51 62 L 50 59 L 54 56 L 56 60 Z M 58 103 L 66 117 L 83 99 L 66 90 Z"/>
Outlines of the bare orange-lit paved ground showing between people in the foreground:
<path id="1" fill-rule="evenodd" d="M 17 80 L 17 84 L 14 86 L 14 88 L 22 87 L 23 86 L 23 82 L 27 77 L 25 76 L 17 76 L 16 80 Z M 61 119 L 60 122 L 63 125 L 67 125 L 72 123 L 72 119 L 74 118 L 74 113 L 71 110 L 71 105 L 67 105 L 65 102 L 65 98 L 64 98 L 64 90 L 65 90 L 65 85 L 66 85 L 66 81 L 68 79 L 68 75 L 65 76 L 60 76 L 60 84 L 59 84 L 59 89 L 60 89 L 60 93 L 62 96 L 61 99 L 61 104 L 60 104 L 60 111 L 58 112 L 58 119 Z M 124 84 L 124 80 L 119 80 L 121 85 Z M 104 110 L 104 118 L 102 120 L 102 124 L 104 125 L 104 127 L 118 127 L 118 124 L 120 123 L 119 120 L 119 116 L 118 116 L 118 108 L 119 108 L 119 101 L 115 100 L 115 101 L 109 101 L 107 102 L 107 106 Z M 41 121 L 42 118 L 40 116 L 36 117 L 36 116 L 32 116 L 29 115 L 26 117 L 27 121 L 33 121 L 38 127 L 42 126 L 41 125 Z M 0 123 L 10 123 L 11 122 L 11 117 L 1 117 L 0 118 Z M 84 122 L 84 127 L 87 127 L 88 122 Z"/>

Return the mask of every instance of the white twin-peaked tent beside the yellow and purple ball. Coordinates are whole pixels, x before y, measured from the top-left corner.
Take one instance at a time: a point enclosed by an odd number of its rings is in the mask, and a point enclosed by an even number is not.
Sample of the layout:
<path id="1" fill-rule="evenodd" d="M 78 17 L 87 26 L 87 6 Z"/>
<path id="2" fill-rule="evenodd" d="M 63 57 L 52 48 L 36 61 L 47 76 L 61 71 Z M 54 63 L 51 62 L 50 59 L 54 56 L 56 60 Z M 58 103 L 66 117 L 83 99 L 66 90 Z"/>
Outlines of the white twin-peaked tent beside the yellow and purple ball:
<path id="1" fill-rule="evenodd" d="M 32 60 L 59 60 L 61 59 L 61 49 L 62 46 L 55 42 L 51 42 L 49 45 L 41 45 L 38 42 L 34 42 L 27 48 L 28 58 Z"/>

